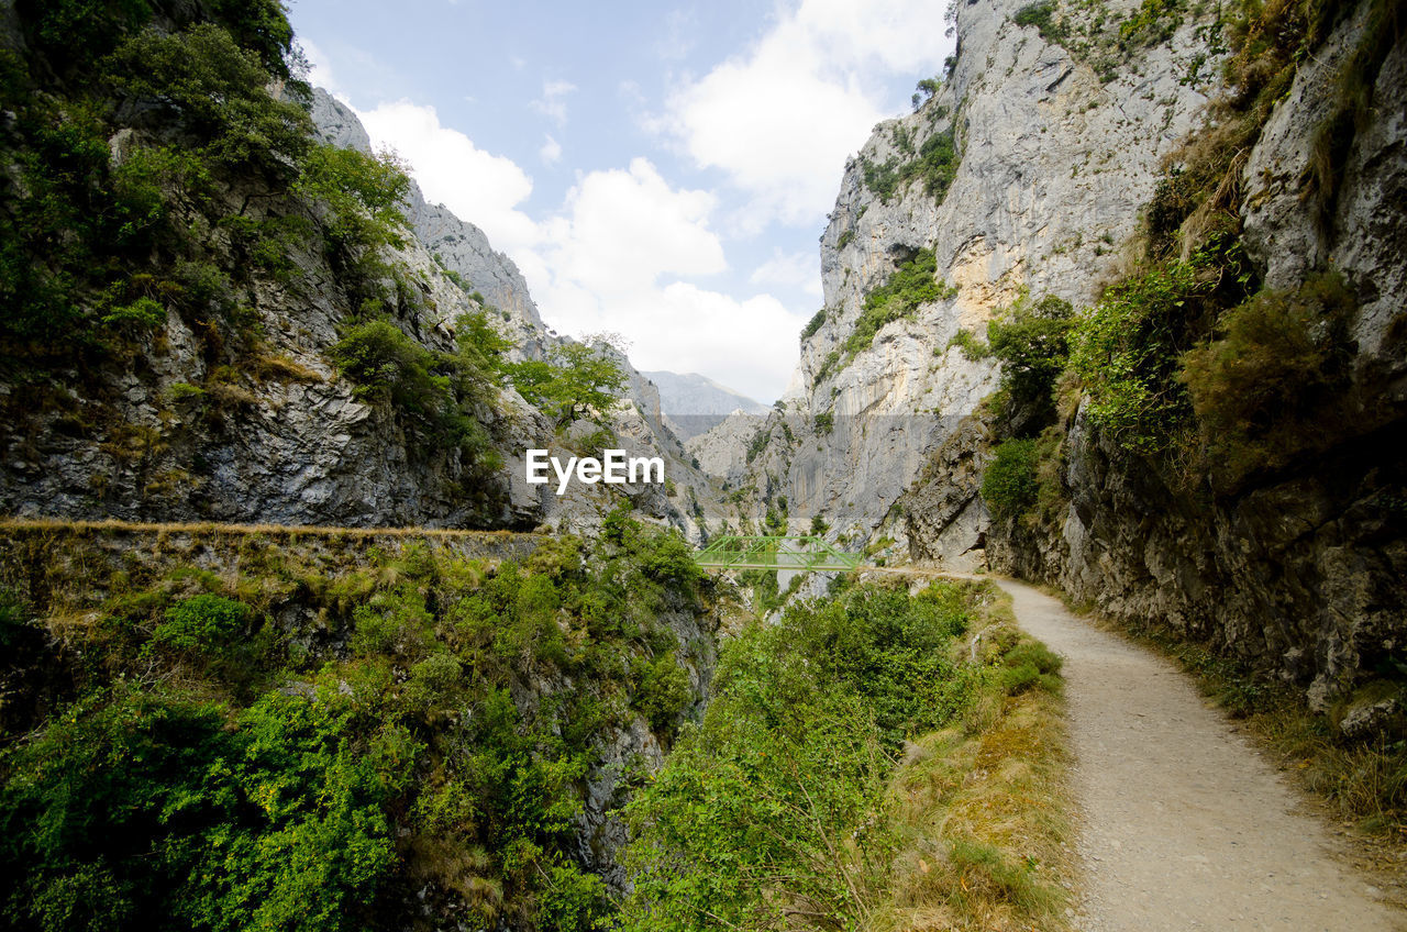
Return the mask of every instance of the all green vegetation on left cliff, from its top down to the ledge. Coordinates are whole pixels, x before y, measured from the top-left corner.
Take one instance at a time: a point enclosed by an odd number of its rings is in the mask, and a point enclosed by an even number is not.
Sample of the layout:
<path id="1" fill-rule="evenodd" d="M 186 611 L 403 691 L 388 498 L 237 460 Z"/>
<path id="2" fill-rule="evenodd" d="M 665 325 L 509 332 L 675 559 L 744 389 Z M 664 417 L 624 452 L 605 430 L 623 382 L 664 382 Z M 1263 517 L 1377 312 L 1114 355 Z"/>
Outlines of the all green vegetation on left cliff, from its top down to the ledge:
<path id="1" fill-rule="evenodd" d="M 231 422 L 267 383 L 314 386 L 326 369 L 310 362 L 336 360 L 447 508 L 501 519 L 491 339 L 487 356 L 463 338 L 457 353 L 428 348 L 432 289 L 398 252 L 404 166 L 321 142 L 283 7 L 14 13 L 0 35 L 0 442 L 32 459 L 91 451 L 94 510 L 200 511 Z M 288 327 L 290 308 L 311 320 Z M 497 338 L 478 322 L 461 336 Z M 152 417 L 125 398 L 138 384 Z"/>

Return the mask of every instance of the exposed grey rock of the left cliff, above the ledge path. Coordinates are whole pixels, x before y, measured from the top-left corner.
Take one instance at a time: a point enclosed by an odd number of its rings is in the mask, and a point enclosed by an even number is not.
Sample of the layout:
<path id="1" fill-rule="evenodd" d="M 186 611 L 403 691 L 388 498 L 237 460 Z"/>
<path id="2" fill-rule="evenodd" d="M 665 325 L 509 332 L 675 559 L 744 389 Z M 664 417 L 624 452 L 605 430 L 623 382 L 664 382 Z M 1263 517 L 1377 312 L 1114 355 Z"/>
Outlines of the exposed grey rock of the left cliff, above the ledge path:
<path id="1" fill-rule="evenodd" d="M 324 138 L 370 149 L 356 115 L 318 90 L 312 115 Z M 136 145 L 131 130 L 110 141 L 120 165 Z M 249 218 L 263 220 L 260 200 Z M 515 344 L 514 359 L 542 359 L 561 339 L 537 314 L 526 283 L 474 225 L 425 203 L 412 184 L 414 235 L 391 256 L 404 273 L 394 324 L 416 344 L 453 351 L 454 321 L 488 310 Z M 225 231 L 208 248 L 215 265 L 238 262 Z M 461 460 L 414 435 L 387 405 L 356 394 L 329 360 L 356 300 L 314 245 L 293 245 L 291 273 L 255 277 L 234 296 L 257 331 L 255 359 L 231 365 L 198 322 L 169 314 L 149 352 L 134 365 L 59 373 L 68 404 L 34 404 L 32 389 L 0 380 L 0 511 L 35 517 L 214 519 L 345 527 L 518 527 L 549 524 L 592 532 L 615 501 L 604 486 L 557 497 L 529 484 L 523 455 L 549 448 L 563 459 L 591 451 L 564 438 L 505 386 L 474 413 L 502 466 Z M 457 280 L 454 279 L 457 276 Z M 664 456 L 674 494 L 658 484 L 623 487 L 646 517 L 698 538 L 702 473 L 664 425 L 654 386 L 619 356 L 629 398 L 612 429 L 632 456 Z M 575 439 L 573 439 L 575 438 Z M 575 448 L 567 449 L 566 445 Z M 613 487 L 615 489 L 615 487 Z M 684 494 L 680 494 L 680 489 Z M 702 497 L 708 500 L 708 493 Z"/>

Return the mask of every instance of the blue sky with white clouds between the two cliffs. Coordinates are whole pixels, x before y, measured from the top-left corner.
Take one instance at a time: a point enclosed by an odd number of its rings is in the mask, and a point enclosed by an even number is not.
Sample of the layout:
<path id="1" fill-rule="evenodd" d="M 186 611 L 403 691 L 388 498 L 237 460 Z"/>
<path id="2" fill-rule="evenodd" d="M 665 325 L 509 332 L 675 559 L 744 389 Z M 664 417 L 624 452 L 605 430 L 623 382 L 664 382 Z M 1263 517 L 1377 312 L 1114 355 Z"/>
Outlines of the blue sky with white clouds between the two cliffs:
<path id="1" fill-rule="evenodd" d="M 291 0 L 312 80 L 563 334 L 781 394 L 846 158 L 951 52 L 944 0 Z"/>

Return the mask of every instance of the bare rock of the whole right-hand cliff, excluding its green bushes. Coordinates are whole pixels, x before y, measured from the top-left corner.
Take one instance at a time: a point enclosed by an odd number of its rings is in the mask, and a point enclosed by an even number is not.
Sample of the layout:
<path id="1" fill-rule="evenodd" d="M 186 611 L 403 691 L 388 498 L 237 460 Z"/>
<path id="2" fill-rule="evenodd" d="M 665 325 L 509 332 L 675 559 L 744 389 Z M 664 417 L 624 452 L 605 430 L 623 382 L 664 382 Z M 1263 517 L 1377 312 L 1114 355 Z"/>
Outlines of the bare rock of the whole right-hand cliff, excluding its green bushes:
<path id="1" fill-rule="evenodd" d="M 981 405 L 999 376 L 976 346 L 986 321 L 1023 293 L 1088 313 L 1141 256 L 1165 159 L 1217 130 L 1210 99 L 1237 93 L 1221 83 L 1224 24 L 1188 14 L 1150 25 L 1138 4 L 1096 6 L 1103 34 L 1064 4 L 1047 17 L 1067 17 L 1065 32 L 1031 4 L 955 7 L 947 82 L 877 127 L 846 169 L 822 239 L 823 315 L 803 338 L 798 387 L 739 479 L 754 518 L 785 496 L 794 522 L 822 514 L 853 545 L 889 538 L 916 559 L 1043 579 L 1209 642 L 1327 707 L 1400 662 L 1407 642 L 1403 42 L 1389 34 L 1370 108 L 1335 130 L 1330 197 L 1311 196 L 1307 179 L 1372 3 L 1331 17 L 1255 144 L 1234 153 L 1235 191 L 1223 191 L 1258 287 L 1293 290 L 1328 269 L 1354 294 L 1352 374 L 1325 438 L 1235 489 L 1188 489 L 1175 467 L 1096 429 L 1085 398 L 1064 415 L 1055 519 L 993 522 L 979 494 L 998 439 Z M 1135 28 L 1150 38 L 1120 41 Z M 922 176 L 905 184 L 903 166 L 947 131 L 958 163 L 946 193 Z M 888 200 L 886 166 L 899 169 Z M 940 297 L 857 338 L 865 296 L 920 249 L 934 253 Z M 1362 732 L 1373 715 L 1351 712 L 1344 728 Z"/>

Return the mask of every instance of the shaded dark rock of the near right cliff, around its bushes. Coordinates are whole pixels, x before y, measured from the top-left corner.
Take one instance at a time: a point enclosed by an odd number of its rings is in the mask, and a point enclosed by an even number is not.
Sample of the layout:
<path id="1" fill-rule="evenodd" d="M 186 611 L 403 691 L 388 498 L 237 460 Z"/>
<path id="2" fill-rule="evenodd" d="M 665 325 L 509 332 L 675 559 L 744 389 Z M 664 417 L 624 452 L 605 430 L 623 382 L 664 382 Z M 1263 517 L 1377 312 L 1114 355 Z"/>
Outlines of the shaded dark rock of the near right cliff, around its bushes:
<path id="1" fill-rule="evenodd" d="M 1366 7 L 1368 4 L 1363 4 Z M 1365 8 L 1306 61 L 1241 172 L 1242 241 L 1271 289 L 1337 267 L 1356 296 L 1352 376 L 1321 449 L 1231 494 L 1186 490 L 1092 429 L 1068 435 L 1069 505 L 1055 527 L 1000 527 L 993 563 L 1059 584 L 1116 617 L 1213 643 L 1330 707 L 1390 670 L 1407 642 L 1407 44 L 1372 87 L 1331 214 L 1304 179 Z M 1376 698 L 1382 698 L 1380 695 Z M 1361 735 L 1390 703 L 1348 708 Z"/>

